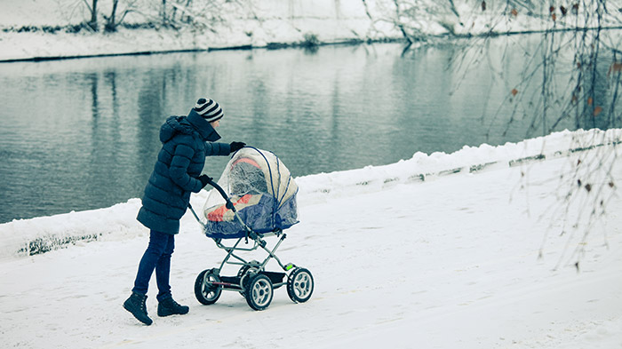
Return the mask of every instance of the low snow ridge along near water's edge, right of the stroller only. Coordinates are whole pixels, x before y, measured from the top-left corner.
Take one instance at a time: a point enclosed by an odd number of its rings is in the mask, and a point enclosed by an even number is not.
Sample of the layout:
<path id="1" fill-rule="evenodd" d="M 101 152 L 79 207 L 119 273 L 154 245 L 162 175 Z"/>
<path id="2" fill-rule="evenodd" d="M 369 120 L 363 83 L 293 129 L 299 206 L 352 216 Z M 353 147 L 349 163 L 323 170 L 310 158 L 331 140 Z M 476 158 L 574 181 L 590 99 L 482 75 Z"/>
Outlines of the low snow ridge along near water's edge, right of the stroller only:
<path id="1" fill-rule="evenodd" d="M 299 202 L 321 202 L 332 195 L 382 190 L 398 183 L 434 180 L 455 173 L 474 173 L 541 161 L 594 147 L 617 145 L 622 130 L 562 131 L 546 137 L 491 147 L 463 147 L 452 154 L 416 153 L 409 160 L 352 171 L 321 173 L 297 178 Z M 304 203 L 303 203 L 304 204 Z"/>

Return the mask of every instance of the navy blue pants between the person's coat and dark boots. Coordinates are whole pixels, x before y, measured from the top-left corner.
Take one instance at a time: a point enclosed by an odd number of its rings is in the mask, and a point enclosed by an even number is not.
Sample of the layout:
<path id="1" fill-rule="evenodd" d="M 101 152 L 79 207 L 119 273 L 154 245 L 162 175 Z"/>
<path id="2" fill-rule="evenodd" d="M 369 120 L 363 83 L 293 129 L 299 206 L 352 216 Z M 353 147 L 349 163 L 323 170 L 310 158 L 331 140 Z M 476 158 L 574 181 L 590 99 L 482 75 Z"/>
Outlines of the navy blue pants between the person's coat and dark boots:
<path id="1" fill-rule="evenodd" d="M 171 297 L 169 275 L 171 274 L 171 254 L 174 249 L 175 235 L 151 231 L 149 246 L 140 259 L 139 272 L 136 274 L 132 292 L 147 295 L 149 280 L 156 270 L 156 282 L 159 291 L 157 300 Z"/>

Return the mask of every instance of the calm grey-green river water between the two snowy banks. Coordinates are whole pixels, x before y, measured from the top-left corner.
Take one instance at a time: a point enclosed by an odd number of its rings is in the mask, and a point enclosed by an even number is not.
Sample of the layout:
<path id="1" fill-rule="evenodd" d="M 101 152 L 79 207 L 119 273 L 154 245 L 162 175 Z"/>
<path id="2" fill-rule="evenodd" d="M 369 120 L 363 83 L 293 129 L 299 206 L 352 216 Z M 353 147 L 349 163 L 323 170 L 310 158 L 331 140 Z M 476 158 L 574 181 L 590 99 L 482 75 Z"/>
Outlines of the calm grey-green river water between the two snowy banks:
<path id="1" fill-rule="evenodd" d="M 521 54 L 501 59 L 491 50 L 491 60 L 507 69 L 498 79 L 483 62 L 463 75 L 452 66 L 459 49 L 451 45 L 405 56 L 402 48 L 4 64 L 0 222 L 140 197 L 160 147 L 160 125 L 205 96 L 225 109 L 218 130 L 223 141 L 272 150 L 296 177 L 525 137 L 529 118 L 518 118 L 504 134 L 503 115 L 514 106 L 502 103 Z M 580 126 L 568 122 L 557 129 Z M 219 177 L 226 162 L 209 158 L 205 172 Z"/>

